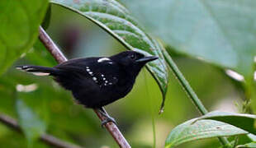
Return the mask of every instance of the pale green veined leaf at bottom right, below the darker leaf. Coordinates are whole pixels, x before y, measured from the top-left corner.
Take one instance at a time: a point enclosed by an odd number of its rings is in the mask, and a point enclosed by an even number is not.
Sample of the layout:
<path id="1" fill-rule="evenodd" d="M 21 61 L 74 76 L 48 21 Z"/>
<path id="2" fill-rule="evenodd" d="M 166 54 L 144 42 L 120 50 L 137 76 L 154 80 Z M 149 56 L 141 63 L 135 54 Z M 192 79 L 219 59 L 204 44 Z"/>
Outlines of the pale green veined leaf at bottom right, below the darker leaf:
<path id="1" fill-rule="evenodd" d="M 218 136 L 247 134 L 244 130 L 215 120 L 194 118 L 175 127 L 165 141 L 165 147 L 178 146 L 187 141 L 196 141 Z M 197 121 L 197 122 L 195 122 Z"/>

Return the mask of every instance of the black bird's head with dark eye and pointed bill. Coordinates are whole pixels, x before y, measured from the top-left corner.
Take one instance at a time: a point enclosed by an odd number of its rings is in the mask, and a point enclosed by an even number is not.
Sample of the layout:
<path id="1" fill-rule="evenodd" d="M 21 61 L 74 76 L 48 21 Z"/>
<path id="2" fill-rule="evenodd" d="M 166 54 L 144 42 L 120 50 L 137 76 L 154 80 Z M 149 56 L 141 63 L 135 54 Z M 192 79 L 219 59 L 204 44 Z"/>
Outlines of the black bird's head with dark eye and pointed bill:
<path id="1" fill-rule="evenodd" d="M 142 53 L 135 51 L 125 51 L 111 56 L 111 60 L 126 68 L 127 72 L 138 74 L 140 69 L 145 66 L 147 62 L 158 59 L 156 56 L 145 56 Z"/>

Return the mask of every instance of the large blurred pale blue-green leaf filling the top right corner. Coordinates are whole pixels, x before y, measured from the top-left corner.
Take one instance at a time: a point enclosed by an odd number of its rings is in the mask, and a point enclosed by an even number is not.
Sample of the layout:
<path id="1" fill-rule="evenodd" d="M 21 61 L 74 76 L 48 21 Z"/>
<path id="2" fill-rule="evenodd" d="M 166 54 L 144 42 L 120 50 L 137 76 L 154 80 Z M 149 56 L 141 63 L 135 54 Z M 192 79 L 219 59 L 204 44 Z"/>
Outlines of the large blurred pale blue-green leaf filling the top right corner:
<path id="1" fill-rule="evenodd" d="M 180 53 L 253 76 L 255 0 L 121 0 Z"/>

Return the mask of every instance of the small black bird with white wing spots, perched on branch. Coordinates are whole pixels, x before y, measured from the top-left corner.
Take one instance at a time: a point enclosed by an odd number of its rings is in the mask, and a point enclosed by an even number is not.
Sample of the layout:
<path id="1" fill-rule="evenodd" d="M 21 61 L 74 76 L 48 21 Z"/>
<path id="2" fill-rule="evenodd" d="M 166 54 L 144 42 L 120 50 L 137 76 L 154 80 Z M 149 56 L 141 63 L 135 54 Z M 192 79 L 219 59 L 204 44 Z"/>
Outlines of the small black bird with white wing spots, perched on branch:
<path id="1" fill-rule="evenodd" d="M 37 76 L 53 76 L 60 86 L 72 91 L 79 104 L 99 109 L 107 118 L 102 122 L 105 124 L 115 123 L 115 120 L 102 110 L 102 106 L 125 97 L 134 86 L 140 69 L 155 59 L 155 56 L 126 51 L 111 57 L 70 59 L 55 67 L 26 65 L 17 69 Z"/>

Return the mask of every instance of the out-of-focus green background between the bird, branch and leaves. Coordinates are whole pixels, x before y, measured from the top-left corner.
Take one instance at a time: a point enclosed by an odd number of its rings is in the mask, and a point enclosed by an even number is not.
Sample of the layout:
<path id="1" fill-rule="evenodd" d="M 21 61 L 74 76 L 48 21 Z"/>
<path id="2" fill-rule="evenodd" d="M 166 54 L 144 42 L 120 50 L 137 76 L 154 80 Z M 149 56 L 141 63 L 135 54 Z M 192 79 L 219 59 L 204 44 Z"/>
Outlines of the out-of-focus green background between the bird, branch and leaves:
<path id="1" fill-rule="evenodd" d="M 109 56 L 126 50 L 111 35 L 82 16 L 55 5 L 51 10 L 47 32 L 68 58 Z M 168 51 L 207 109 L 235 112 L 240 109 L 235 103 L 244 99 L 240 93 L 242 90 L 220 68 Z M 37 42 L 14 65 L 22 64 L 55 66 L 57 62 Z M 29 92 L 17 92 L 18 85 L 30 86 L 31 89 Z M 17 118 L 16 100 L 21 99 L 39 115 L 47 127 L 46 132 L 60 139 L 92 148 L 117 147 L 106 129 L 101 127 L 96 114 L 91 109 L 75 104 L 71 93 L 59 87 L 50 77 L 32 76 L 12 67 L 0 78 L 0 96 L 2 113 Z M 161 100 L 159 87 L 144 68 L 130 94 L 108 105 L 106 109 L 116 118 L 118 127 L 132 147 L 152 147 L 154 128 L 156 147 L 163 147 L 173 127 L 196 118 L 199 113 L 172 74 L 169 77 L 165 110 L 159 115 Z M 25 136 L 0 124 L 0 144 L 0 147 L 22 148 L 27 146 L 27 141 Z M 220 143 L 217 139 L 209 139 L 179 147 L 209 146 L 217 147 Z M 38 141 L 33 147 L 50 146 Z"/>

